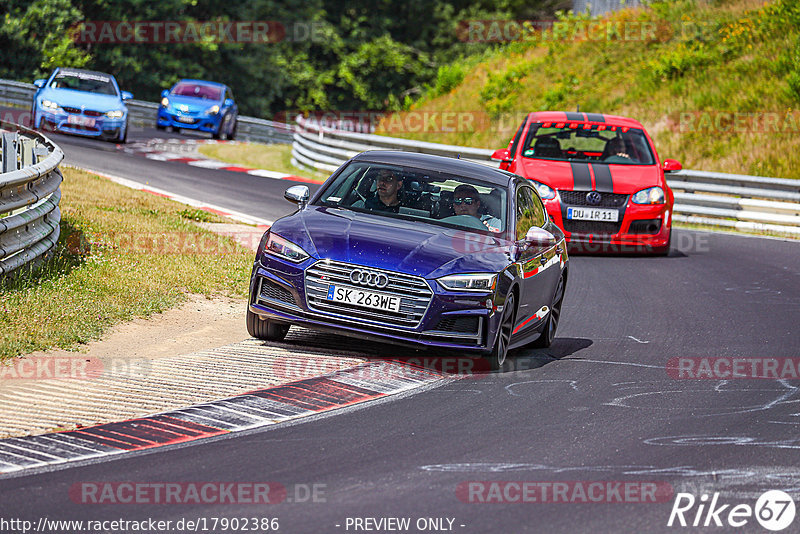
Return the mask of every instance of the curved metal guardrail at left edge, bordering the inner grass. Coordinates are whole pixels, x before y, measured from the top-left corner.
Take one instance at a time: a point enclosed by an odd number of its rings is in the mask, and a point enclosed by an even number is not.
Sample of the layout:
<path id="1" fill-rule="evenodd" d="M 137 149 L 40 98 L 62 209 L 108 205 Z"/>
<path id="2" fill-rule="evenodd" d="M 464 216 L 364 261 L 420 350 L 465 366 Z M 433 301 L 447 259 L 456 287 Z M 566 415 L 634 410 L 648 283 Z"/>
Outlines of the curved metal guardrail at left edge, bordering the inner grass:
<path id="1" fill-rule="evenodd" d="M 0 121 L 0 277 L 45 258 L 60 235 L 58 164 L 47 137 Z"/>

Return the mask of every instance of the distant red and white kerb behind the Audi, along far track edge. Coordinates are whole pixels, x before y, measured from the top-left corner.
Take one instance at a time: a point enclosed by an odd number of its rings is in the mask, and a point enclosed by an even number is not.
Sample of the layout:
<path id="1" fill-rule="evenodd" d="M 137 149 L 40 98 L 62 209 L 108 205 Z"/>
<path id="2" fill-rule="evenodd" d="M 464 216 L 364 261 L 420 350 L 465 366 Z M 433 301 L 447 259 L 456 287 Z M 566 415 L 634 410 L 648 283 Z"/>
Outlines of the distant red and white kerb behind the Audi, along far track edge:
<path id="1" fill-rule="evenodd" d="M 215 169 L 220 171 L 243 172 L 262 178 L 272 178 L 275 180 L 291 180 L 293 182 L 316 183 L 310 178 L 303 178 L 294 174 L 270 171 L 267 169 L 253 169 L 242 165 L 233 165 L 205 157 L 197 153 L 197 145 L 217 144 L 217 143 L 236 143 L 236 141 L 216 141 L 208 139 L 150 139 L 139 143 L 128 145 L 117 145 L 117 148 L 128 154 L 144 156 L 147 159 L 156 161 L 170 161 L 173 163 L 184 163 L 193 167 L 204 169 Z"/>

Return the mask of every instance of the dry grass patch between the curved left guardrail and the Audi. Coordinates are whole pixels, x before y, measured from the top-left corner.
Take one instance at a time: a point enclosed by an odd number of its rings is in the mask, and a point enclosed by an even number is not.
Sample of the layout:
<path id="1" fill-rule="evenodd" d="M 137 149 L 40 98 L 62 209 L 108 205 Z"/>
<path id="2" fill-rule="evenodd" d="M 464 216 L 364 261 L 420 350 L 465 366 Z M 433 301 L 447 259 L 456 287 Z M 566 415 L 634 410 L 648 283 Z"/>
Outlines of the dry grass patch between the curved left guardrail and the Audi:
<path id="1" fill-rule="evenodd" d="M 188 293 L 245 297 L 253 253 L 198 228 L 226 222 L 93 174 L 63 168 L 61 236 L 40 270 L 0 280 L 0 361 L 74 349 Z"/>

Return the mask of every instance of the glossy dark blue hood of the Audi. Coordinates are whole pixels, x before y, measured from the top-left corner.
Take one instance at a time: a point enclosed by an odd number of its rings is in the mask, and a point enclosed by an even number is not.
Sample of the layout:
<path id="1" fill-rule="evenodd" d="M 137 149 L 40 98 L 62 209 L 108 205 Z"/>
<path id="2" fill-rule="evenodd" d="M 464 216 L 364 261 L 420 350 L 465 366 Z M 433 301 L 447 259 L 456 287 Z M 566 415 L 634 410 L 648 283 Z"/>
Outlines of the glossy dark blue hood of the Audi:
<path id="1" fill-rule="evenodd" d="M 510 261 L 509 243 L 485 234 L 321 206 L 284 217 L 270 231 L 316 258 L 425 278 L 499 272 Z"/>

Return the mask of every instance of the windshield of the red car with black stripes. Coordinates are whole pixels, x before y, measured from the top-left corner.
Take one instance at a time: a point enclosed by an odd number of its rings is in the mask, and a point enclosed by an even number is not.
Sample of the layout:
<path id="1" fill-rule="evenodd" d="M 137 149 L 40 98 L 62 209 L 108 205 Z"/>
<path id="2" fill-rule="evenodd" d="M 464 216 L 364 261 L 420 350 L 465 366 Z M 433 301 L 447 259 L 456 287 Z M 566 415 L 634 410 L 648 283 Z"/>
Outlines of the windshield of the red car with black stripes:
<path id="1" fill-rule="evenodd" d="M 522 157 L 614 165 L 655 163 L 641 129 L 569 121 L 532 123 Z"/>

